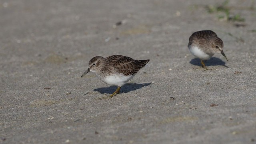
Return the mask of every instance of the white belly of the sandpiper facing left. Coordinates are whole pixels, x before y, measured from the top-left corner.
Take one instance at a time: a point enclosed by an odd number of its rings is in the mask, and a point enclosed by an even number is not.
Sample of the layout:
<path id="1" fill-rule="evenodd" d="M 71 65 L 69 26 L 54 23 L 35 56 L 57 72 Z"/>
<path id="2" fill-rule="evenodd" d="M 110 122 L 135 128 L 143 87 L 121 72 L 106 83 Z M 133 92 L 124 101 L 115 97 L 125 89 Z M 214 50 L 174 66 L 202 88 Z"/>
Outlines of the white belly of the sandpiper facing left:
<path id="1" fill-rule="evenodd" d="M 106 76 L 105 78 L 102 78 L 102 81 L 111 86 L 123 86 L 126 82 L 128 82 L 134 76 L 135 74 L 131 76 L 115 74 L 112 76 Z"/>

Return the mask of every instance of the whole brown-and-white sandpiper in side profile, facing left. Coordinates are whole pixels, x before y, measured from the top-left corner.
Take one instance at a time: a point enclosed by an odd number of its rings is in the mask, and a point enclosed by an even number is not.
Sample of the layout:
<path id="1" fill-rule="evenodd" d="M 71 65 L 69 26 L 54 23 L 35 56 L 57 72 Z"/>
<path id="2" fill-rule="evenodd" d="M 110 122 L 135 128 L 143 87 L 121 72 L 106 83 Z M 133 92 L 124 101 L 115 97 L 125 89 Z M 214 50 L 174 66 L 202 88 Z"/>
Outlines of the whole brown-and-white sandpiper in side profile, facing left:
<path id="1" fill-rule="evenodd" d="M 90 60 L 89 68 L 82 74 L 81 78 L 92 71 L 106 84 L 118 86 L 116 91 L 110 95 L 110 97 L 113 97 L 119 94 L 121 86 L 132 79 L 148 62 L 149 60 L 134 60 L 121 55 L 113 55 L 106 58 L 95 56 Z"/>

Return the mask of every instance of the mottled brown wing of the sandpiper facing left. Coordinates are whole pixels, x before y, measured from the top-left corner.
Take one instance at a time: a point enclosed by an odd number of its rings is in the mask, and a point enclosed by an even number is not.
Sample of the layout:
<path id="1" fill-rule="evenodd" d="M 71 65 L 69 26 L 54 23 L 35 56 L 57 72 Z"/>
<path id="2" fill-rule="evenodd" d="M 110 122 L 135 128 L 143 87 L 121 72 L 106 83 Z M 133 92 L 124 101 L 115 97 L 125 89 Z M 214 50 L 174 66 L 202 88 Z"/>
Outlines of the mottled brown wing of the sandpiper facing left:
<path id="1" fill-rule="evenodd" d="M 112 59 L 110 65 L 113 65 L 118 72 L 124 74 L 125 76 L 136 74 L 149 62 L 149 60 L 134 60 L 127 56 L 119 56 L 118 60 L 116 58 Z"/>

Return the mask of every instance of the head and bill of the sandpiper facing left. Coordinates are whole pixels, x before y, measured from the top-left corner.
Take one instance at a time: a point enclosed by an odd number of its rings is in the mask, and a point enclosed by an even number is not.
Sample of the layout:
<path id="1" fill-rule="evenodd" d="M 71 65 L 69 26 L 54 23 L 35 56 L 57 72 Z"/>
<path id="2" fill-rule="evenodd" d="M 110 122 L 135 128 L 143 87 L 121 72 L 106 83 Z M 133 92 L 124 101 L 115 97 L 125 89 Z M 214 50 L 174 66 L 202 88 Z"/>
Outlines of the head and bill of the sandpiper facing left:
<path id="1" fill-rule="evenodd" d="M 84 72 L 84 74 L 82 74 L 81 78 L 90 71 L 94 73 L 99 72 L 100 67 L 104 64 L 105 61 L 106 59 L 102 56 L 95 56 L 94 58 L 92 58 L 89 62 L 89 68 L 86 70 L 86 72 Z"/>

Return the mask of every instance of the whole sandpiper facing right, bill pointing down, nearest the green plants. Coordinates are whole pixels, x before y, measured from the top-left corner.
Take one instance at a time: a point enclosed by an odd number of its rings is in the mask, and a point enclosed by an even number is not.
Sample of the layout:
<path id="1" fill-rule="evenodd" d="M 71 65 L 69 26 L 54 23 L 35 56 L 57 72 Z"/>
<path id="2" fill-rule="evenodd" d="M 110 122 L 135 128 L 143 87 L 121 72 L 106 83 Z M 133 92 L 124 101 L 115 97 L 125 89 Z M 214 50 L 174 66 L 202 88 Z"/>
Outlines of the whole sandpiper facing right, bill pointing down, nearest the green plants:
<path id="1" fill-rule="evenodd" d="M 223 41 L 212 30 L 194 32 L 189 37 L 188 49 L 191 54 L 201 60 L 203 68 L 206 68 L 204 60 L 209 60 L 216 53 L 222 54 L 228 61 L 228 58 L 223 52 L 223 47 Z"/>

